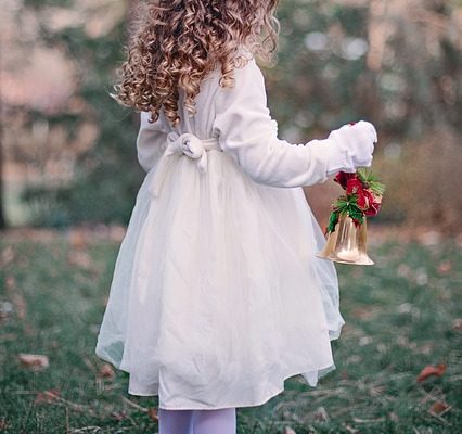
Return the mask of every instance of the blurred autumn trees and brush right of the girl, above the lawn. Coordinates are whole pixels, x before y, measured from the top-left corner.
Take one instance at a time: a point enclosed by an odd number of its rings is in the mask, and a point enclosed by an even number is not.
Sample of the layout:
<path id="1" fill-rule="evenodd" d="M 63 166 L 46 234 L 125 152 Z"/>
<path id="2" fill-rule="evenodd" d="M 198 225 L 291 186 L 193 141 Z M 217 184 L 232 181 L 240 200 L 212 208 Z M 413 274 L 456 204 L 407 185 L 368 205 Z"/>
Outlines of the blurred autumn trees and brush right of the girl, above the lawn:
<path id="1" fill-rule="evenodd" d="M 268 69 L 281 133 L 304 142 L 349 120 L 373 122 L 380 136 L 374 170 L 388 186 L 374 222 L 459 227 L 462 200 L 444 173 L 462 163 L 461 7 L 440 0 L 281 2 L 279 62 Z M 317 189 L 312 203 L 326 208 L 325 191 Z"/>

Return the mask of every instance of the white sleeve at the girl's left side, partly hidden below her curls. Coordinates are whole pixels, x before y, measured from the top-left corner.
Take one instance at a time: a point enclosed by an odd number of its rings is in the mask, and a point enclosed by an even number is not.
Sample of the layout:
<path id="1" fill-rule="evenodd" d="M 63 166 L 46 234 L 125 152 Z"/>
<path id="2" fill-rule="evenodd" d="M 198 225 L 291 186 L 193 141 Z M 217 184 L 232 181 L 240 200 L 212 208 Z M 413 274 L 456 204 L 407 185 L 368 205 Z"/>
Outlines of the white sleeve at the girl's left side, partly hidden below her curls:
<path id="1" fill-rule="evenodd" d="M 162 114 L 155 123 L 150 123 L 151 114 L 141 112 L 140 130 L 137 137 L 138 162 L 144 171 L 150 171 L 165 151 L 167 132 L 163 127 Z"/>

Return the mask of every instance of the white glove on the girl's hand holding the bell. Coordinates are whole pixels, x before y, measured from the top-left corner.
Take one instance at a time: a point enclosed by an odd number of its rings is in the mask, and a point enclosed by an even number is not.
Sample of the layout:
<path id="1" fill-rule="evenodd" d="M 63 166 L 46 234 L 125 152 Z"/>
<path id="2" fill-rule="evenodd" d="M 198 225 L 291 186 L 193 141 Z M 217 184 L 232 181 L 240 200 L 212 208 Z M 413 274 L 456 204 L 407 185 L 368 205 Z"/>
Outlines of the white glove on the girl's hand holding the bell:
<path id="1" fill-rule="evenodd" d="M 354 173 L 358 167 L 371 166 L 374 143 L 377 142 L 377 132 L 371 123 L 360 120 L 354 125 L 344 125 L 333 130 L 328 140 L 330 141 L 328 175 L 341 170 Z"/>

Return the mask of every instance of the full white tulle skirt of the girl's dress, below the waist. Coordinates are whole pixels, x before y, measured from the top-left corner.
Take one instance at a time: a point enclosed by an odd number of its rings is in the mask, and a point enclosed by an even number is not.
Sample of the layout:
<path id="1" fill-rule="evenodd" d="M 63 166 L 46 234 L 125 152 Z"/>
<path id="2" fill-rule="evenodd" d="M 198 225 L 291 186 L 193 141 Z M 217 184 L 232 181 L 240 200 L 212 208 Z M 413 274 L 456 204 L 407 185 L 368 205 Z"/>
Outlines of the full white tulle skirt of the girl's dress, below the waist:
<path id="1" fill-rule="evenodd" d="M 208 151 L 145 177 L 115 264 L 97 355 L 165 409 L 257 406 L 335 368 L 344 320 L 334 265 L 301 188 L 254 182 Z"/>

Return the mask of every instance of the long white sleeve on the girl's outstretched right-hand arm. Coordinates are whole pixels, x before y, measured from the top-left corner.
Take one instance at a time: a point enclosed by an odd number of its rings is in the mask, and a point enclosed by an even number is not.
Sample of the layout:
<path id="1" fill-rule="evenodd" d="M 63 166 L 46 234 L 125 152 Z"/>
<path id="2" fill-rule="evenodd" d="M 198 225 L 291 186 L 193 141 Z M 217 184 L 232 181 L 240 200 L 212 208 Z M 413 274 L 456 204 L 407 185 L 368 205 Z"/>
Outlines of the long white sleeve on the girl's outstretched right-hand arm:
<path id="1" fill-rule="evenodd" d="M 252 58 L 234 71 L 233 88 L 218 87 L 214 135 L 221 149 L 258 183 L 301 187 L 324 182 L 330 164 L 342 155 L 329 140 L 292 144 L 278 139 L 267 106 L 265 79 Z"/>

